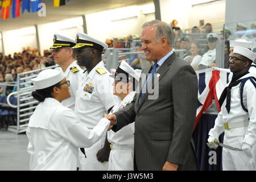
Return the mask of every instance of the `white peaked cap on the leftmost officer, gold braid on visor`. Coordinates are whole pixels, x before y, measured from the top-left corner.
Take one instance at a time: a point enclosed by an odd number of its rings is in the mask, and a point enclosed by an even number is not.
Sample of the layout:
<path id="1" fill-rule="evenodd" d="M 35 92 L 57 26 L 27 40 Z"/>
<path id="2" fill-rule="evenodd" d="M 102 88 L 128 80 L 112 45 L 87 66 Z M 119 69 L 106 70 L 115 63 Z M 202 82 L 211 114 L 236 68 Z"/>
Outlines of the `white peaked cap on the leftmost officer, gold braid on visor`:
<path id="1" fill-rule="evenodd" d="M 76 45 L 75 39 L 68 38 L 67 36 L 54 34 L 53 46 L 50 49 L 58 49 L 61 47 L 73 47 Z"/>

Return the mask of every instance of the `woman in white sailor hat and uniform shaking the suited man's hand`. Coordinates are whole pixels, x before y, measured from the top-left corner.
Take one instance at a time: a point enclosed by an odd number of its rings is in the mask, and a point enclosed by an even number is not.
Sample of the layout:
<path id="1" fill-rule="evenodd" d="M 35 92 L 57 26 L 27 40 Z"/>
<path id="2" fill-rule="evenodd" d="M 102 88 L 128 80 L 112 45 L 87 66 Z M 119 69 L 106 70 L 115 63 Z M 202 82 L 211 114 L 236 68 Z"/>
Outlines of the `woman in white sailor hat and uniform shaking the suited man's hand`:
<path id="1" fill-rule="evenodd" d="M 27 128 L 30 170 L 76 170 L 78 148 L 90 147 L 108 130 L 108 119 L 89 130 L 74 111 L 61 105 L 69 98 L 69 80 L 63 71 L 46 69 L 31 80 L 40 102 Z"/>

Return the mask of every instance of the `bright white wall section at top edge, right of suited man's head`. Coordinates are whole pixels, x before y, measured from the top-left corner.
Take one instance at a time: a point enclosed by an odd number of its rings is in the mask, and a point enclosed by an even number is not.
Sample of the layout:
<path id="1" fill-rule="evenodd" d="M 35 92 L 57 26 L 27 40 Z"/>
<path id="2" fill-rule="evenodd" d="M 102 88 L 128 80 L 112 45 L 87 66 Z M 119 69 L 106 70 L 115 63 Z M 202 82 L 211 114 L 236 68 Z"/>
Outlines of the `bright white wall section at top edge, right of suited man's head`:
<path id="1" fill-rule="evenodd" d="M 213 1 L 198 5 L 195 5 L 195 2 L 194 0 L 160 0 L 161 19 L 167 23 L 176 19 L 181 29 L 199 26 L 201 19 L 204 19 L 204 24 L 223 26 L 225 1 Z"/>

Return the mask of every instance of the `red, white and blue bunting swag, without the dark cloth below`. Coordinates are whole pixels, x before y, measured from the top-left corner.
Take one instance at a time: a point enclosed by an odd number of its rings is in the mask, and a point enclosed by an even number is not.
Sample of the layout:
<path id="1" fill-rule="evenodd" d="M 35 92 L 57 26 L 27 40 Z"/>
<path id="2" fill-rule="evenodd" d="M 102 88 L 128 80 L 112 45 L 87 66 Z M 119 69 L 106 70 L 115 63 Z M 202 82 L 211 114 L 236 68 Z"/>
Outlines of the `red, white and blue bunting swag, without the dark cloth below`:
<path id="1" fill-rule="evenodd" d="M 208 68 L 201 71 L 197 71 L 197 77 L 199 79 L 199 93 L 198 101 L 199 107 L 196 111 L 196 121 L 194 130 L 199 122 L 199 119 L 203 112 L 208 109 L 214 99 L 218 111 L 220 111 L 220 105 L 218 100 L 220 99 L 221 93 L 224 90 L 226 84 L 229 82 L 230 70 L 222 68 Z"/>

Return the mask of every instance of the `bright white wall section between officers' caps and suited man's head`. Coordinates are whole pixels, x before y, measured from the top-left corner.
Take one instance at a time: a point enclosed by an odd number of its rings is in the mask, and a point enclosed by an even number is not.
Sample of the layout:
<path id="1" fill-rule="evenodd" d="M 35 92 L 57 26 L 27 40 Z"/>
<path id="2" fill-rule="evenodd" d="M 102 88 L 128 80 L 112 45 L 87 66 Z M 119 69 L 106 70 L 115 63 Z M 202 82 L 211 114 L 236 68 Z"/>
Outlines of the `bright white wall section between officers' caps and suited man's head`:
<path id="1" fill-rule="evenodd" d="M 101 41 L 141 34 L 142 24 L 155 19 L 154 3 L 85 15 L 88 35 Z"/>

